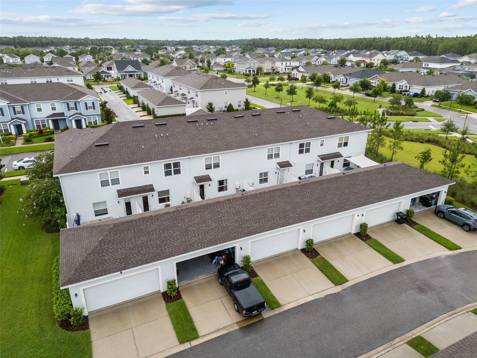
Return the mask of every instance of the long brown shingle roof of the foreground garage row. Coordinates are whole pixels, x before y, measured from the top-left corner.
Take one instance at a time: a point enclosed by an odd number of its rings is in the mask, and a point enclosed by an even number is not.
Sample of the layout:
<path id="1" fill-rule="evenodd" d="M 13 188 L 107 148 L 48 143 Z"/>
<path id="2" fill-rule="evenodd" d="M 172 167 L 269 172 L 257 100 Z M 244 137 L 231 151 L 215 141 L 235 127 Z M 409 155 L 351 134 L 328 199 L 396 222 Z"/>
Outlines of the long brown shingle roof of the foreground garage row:
<path id="1" fill-rule="evenodd" d="M 449 184 L 392 162 L 63 229 L 60 283 L 83 282 Z"/>

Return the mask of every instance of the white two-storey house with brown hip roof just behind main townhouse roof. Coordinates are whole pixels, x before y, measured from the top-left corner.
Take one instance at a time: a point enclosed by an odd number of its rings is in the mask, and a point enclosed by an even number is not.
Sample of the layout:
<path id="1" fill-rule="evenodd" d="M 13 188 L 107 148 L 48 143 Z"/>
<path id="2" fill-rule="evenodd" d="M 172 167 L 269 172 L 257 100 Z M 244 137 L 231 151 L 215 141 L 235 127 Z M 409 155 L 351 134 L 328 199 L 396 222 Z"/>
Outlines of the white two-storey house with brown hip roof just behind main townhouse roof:
<path id="1" fill-rule="evenodd" d="M 212 102 L 219 111 L 227 109 L 229 104 L 234 108 L 243 108 L 246 84 L 199 72 L 174 78 L 171 82 L 172 95 L 187 103 L 188 107 L 207 109 L 207 103 Z"/>

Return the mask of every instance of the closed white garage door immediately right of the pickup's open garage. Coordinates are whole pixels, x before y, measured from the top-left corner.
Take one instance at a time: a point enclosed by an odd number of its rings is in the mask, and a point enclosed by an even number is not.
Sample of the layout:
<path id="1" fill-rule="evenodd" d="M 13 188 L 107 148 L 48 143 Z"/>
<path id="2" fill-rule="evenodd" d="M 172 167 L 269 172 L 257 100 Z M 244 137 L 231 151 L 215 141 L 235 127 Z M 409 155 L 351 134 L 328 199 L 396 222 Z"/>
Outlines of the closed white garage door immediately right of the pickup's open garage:
<path id="1" fill-rule="evenodd" d="M 255 261 L 296 249 L 299 235 L 300 229 L 297 229 L 252 241 L 250 242 L 250 257 L 252 261 Z"/>

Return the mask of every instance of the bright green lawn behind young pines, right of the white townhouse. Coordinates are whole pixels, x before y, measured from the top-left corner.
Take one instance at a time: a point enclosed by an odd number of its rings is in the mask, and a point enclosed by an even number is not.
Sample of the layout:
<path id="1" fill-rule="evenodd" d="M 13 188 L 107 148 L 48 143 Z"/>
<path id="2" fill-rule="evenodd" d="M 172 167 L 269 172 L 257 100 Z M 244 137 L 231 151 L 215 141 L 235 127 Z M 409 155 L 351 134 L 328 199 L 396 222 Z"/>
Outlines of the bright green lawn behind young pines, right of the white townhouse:
<path id="1" fill-rule="evenodd" d="M 391 158 L 391 151 L 388 149 L 388 144 L 390 140 L 386 140 L 386 145 L 379 149 L 379 153 L 385 155 L 389 159 Z M 397 160 L 413 167 L 419 168 L 419 161 L 414 158 L 417 154 L 422 152 L 423 150 L 429 148 L 431 149 L 432 161 L 425 165 L 425 170 L 430 172 L 437 172 L 440 173 L 442 171 L 442 164 L 439 163 L 439 160 L 442 159 L 442 152 L 444 148 L 434 146 L 428 143 L 415 143 L 415 142 L 403 142 L 404 150 L 394 153 L 393 160 Z M 471 167 L 477 166 L 477 159 L 471 155 L 466 155 L 462 160 L 467 167 L 470 165 Z"/>

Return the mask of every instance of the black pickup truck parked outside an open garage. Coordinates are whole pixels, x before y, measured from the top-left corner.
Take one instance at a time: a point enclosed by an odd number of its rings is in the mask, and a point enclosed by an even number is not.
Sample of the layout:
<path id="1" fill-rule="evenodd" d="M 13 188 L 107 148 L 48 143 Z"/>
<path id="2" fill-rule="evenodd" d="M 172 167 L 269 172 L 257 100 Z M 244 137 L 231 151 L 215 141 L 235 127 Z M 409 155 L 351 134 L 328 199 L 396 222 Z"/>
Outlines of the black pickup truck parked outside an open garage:
<path id="1" fill-rule="evenodd" d="M 257 287 L 238 263 L 228 263 L 217 270 L 218 283 L 223 284 L 234 301 L 234 308 L 244 317 L 258 315 L 267 307 Z"/>

